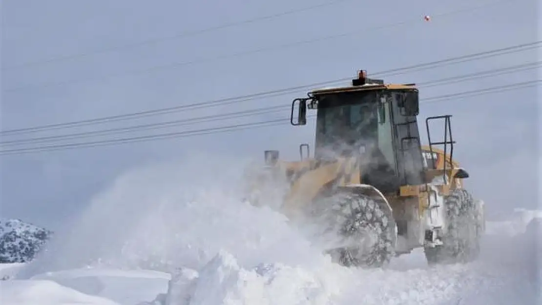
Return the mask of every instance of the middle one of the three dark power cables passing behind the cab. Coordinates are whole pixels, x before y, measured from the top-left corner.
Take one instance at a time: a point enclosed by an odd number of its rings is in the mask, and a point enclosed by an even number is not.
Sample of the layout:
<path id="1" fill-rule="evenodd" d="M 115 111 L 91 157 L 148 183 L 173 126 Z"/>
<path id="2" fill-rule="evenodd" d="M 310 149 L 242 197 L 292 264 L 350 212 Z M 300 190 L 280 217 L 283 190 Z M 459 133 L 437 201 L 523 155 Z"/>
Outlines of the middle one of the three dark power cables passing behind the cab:
<path id="1" fill-rule="evenodd" d="M 481 79 L 483 77 L 503 75 L 503 74 L 514 73 L 514 72 L 518 72 L 522 70 L 533 69 L 533 68 L 539 67 L 541 63 L 542 63 L 541 61 L 537 61 L 537 62 L 531 62 L 531 63 L 518 64 L 515 66 L 506 67 L 506 68 L 491 69 L 491 70 L 481 71 L 478 73 L 457 75 L 453 77 L 446 77 L 444 79 L 439 79 L 439 80 L 420 82 L 417 85 L 420 87 L 427 88 L 427 87 L 433 87 L 433 86 L 447 85 L 449 83 L 457 83 L 457 82 Z M 507 86 L 497 87 L 497 88 L 507 88 Z M 490 88 L 490 90 L 494 90 L 494 89 L 495 88 Z M 475 93 L 478 93 L 478 92 L 479 90 L 475 90 Z M 466 93 L 463 93 L 463 94 L 466 94 Z M 431 100 L 435 100 L 435 99 L 436 98 L 431 98 Z M 35 143 L 43 143 L 43 142 L 55 142 L 55 141 L 70 140 L 70 139 L 89 138 L 89 137 L 94 137 L 96 135 L 111 135 L 111 134 L 136 132 L 136 131 L 141 131 L 141 130 L 154 130 L 154 129 L 159 129 L 159 128 L 187 126 L 187 125 L 192 125 L 192 124 L 198 124 L 201 122 L 210 122 L 210 121 L 215 122 L 215 121 L 228 120 L 228 119 L 233 119 L 233 118 L 244 118 L 244 117 L 253 116 L 253 115 L 278 113 L 281 111 L 286 111 L 286 109 L 290 107 L 291 107 L 290 105 L 277 105 L 277 106 L 271 106 L 271 107 L 249 109 L 245 111 L 199 116 L 196 118 L 157 122 L 157 123 L 152 123 L 152 124 L 141 124 L 141 125 L 128 126 L 128 127 L 109 128 L 109 129 L 101 129 L 98 131 L 70 133 L 70 134 L 63 134 L 63 135 L 51 135 L 48 137 L 1 141 L 0 145 L 14 146 L 14 145 L 24 145 L 27 143 L 35 144 Z"/>

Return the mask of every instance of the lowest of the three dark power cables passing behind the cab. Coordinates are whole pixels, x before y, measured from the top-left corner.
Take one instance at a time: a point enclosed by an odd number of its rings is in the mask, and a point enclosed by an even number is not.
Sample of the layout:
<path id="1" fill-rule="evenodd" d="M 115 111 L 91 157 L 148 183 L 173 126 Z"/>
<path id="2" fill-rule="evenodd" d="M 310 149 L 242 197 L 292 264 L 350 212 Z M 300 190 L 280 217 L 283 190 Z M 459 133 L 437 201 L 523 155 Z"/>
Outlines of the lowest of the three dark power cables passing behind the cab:
<path id="1" fill-rule="evenodd" d="M 441 101 L 446 101 L 446 100 L 456 99 L 456 98 L 461 98 L 461 97 L 471 97 L 471 96 L 476 96 L 476 95 L 485 95 L 489 93 L 504 92 L 508 90 L 527 88 L 527 87 L 535 86 L 535 84 L 538 84 L 540 82 L 542 82 L 542 80 L 532 80 L 532 81 L 513 83 L 510 85 L 504 85 L 504 86 L 493 87 L 493 88 L 484 88 L 484 89 L 472 90 L 472 91 L 455 93 L 455 94 L 435 96 L 433 98 L 424 99 L 421 103 L 441 102 Z M 311 118 L 312 117 L 313 116 L 311 116 Z M 151 141 L 151 140 L 170 139 L 170 138 L 184 138 L 184 137 L 191 137 L 191 136 L 203 135 L 203 134 L 212 134 L 212 133 L 227 132 L 227 131 L 232 131 L 232 130 L 263 127 L 263 126 L 272 125 L 272 124 L 275 124 L 275 125 L 281 124 L 281 123 L 284 124 L 287 121 L 288 120 L 286 119 L 274 119 L 274 120 L 267 120 L 267 121 L 249 122 L 249 123 L 235 124 L 235 125 L 228 125 L 228 126 L 196 129 L 192 131 L 180 131 L 180 132 L 144 135 L 144 136 L 131 137 L 131 138 L 89 141 L 89 142 L 50 145 L 50 146 L 41 146 L 41 147 L 38 146 L 38 147 L 30 147 L 30 148 L 18 148 L 18 149 L 13 149 L 13 150 L 2 150 L 0 151 L 0 155 L 22 154 L 22 153 L 55 151 L 55 150 L 68 150 L 72 148 L 96 147 L 96 146 L 104 146 L 104 145 L 125 144 L 125 143 L 130 143 L 130 142 Z"/>

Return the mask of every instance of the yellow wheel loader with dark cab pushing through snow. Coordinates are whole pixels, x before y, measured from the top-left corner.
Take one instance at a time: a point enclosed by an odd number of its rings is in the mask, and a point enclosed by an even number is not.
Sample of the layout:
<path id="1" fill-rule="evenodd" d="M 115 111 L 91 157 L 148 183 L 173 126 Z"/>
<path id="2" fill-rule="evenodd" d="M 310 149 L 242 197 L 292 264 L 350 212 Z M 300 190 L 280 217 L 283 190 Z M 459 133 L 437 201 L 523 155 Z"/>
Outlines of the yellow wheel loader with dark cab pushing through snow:
<path id="1" fill-rule="evenodd" d="M 469 174 L 452 159 L 451 115 L 425 119 L 422 145 L 415 84 L 385 84 L 362 70 L 351 86 L 307 96 L 293 100 L 291 124 L 306 125 L 307 109 L 316 112 L 314 156 L 308 144 L 299 161 L 265 151 L 265 165 L 247 177 L 250 204 L 282 185 L 280 211 L 334 234 L 326 252 L 349 267 L 385 267 L 416 248 L 430 265 L 478 257 L 484 206 L 464 189 Z M 438 141 L 430 122 L 444 125 Z"/>

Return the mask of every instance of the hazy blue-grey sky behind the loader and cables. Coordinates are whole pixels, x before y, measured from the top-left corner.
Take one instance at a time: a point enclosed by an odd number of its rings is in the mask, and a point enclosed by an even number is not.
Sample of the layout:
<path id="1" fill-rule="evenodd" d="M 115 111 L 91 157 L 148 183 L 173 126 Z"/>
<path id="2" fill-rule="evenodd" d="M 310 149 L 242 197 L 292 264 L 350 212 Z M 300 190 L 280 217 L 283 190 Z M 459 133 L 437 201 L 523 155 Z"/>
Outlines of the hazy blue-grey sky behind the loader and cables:
<path id="1" fill-rule="evenodd" d="M 333 3 L 331 3 L 333 2 Z M 320 8 L 262 18 L 316 4 Z M 488 4 L 489 3 L 489 4 Z M 487 5 L 486 5 L 487 4 Z M 540 40 L 535 0 L 2 1 L 3 130 L 165 108 L 369 74 Z M 480 7 L 478 9 L 469 9 Z M 424 15 L 431 21 L 425 22 Z M 201 31 L 262 18 L 236 26 Z M 395 24 L 395 26 L 394 26 Z M 182 33 L 195 33 L 180 36 Z M 338 36 L 339 34 L 346 34 Z M 320 39 L 328 36 L 334 38 Z M 169 38 L 168 38 L 169 37 Z M 296 43 L 312 41 L 310 43 Z M 154 42 L 149 42 L 154 41 Z M 145 43 L 140 43 L 145 42 Z M 296 44 L 295 44 L 296 43 Z M 291 46 L 285 47 L 285 45 Z M 131 45 L 131 47 L 115 48 Z M 107 52 L 99 52 L 111 49 Z M 255 53 L 250 50 L 265 49 Z M 237 54 L 236 56 L 230 56 Z M 74 55 L 74 56 L 72 56 Z M 59 57 L 63 60 L 54 60 Z M 386 81 L 423 83 L 539 60 L 537 49 L 417 72 Z M 191 63 L 190 63 L 191 62 Z M 156 68 L 158 67 L 158 68 Z M 421 85 L 432 96 L 539 79 L 531 68 L 500 76 Z M 4 141 L 289 105 L 303 91 L 150 118 L 3 137 Z M 537 88 L 422 104 L 426 116 L 453 115 L 455 157 L 468 187 L 492 213 L 537 206 L 540 160 Z M 254 115 L 208 128 L 285 118 Z M 424 131 L 424 125 L 420 124 Z M 27 146 L 186 130 L 187 126 Z M 193 150 L 263 159 L 266 149 L 298 158 L 314 125 L 249 128 L 182 139 L 0 156 L 0 216 L 55 228 L 115 177 Z"/>

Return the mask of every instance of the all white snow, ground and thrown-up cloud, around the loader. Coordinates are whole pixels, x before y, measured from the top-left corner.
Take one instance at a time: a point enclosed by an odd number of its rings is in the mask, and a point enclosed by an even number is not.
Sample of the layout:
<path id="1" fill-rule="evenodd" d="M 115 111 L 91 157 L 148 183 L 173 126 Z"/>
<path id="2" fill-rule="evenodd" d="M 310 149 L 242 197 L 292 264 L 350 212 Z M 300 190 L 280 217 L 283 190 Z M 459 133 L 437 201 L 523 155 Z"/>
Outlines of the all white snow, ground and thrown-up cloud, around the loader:
<path id="1" fill-rule="evenodd" d="M 0 269 L 0 277 L 16 275 L 15 280 L 0 281 L 0 302 L 531 305 L 542 301 L 542 229 L 526 230 L 540 211 L 518 210 L 507 222 L 488 223 L 481 258 L 472 264 L 429 268 L 423 252 L 415 251 L 394 259 L 385 270 L 347 269 L 331 263 L 306 232 L 280 213 L 238 200 L 235 160 L 199 158 L 119 178 L 74 220 L 69 232 L 57 233 L 48 251 L 35 261 Z"/>

